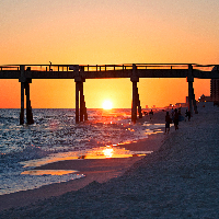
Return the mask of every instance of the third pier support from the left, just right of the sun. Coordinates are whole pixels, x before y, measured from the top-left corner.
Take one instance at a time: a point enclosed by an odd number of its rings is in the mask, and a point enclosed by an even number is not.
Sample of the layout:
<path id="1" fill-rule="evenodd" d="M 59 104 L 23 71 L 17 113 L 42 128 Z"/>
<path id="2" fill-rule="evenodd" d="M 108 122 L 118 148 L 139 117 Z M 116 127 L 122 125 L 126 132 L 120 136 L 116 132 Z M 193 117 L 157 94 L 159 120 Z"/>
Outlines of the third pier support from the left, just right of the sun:
<path id="1" fill-rule="evenodd" d="M 137 67 L 134 64 L 132 65 L 132 76 L 130 78 L 130 81 L 132 82 L 132 104 L 131 104 L 131 122 L 136 123 L 137 120 L 137 112 L 139 113 L 139 118 L 142 118 L 141 113 L 141 106 L 140 106 L 140 100 L 138 94 L 138 87 L 137 82 L 139 82 Z M 138 107 L 138 111 L 137 111 Z"/>

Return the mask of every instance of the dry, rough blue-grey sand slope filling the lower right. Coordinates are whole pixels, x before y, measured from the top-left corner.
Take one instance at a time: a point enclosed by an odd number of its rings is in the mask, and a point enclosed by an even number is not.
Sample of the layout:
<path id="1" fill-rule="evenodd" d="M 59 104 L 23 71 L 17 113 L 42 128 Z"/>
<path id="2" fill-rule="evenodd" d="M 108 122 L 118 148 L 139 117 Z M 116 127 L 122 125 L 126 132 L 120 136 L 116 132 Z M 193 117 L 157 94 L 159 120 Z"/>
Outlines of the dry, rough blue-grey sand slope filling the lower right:
<path id="1" fill-rule="evenodd" d="M 122 176 L 0 218 L 219 218 L 218 124 L 218 107 L 200 108 Z"/>

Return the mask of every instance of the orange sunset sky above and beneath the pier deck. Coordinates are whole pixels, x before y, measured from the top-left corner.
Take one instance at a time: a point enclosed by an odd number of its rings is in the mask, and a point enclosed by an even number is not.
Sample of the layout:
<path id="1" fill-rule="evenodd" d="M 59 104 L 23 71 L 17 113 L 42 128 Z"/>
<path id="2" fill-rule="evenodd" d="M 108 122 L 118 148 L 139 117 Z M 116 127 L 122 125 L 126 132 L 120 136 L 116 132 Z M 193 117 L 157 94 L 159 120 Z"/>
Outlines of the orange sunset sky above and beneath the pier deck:
<path id="1" fill-rule="evenodd" d="M 0 1 L 0 65 L 219 64 L 218 0 Z M 186 79 L 140 79 L 141 106 L 185 102 Z M 195 79 L 196 100 L 210 81 Z M 73 80 L 33 80 L 33 108 L 74 108 Z M 0 107 L 20 107 L 0 80 Z M 129 79 L 87 80 L 88 108 L 131 106 Z"/>

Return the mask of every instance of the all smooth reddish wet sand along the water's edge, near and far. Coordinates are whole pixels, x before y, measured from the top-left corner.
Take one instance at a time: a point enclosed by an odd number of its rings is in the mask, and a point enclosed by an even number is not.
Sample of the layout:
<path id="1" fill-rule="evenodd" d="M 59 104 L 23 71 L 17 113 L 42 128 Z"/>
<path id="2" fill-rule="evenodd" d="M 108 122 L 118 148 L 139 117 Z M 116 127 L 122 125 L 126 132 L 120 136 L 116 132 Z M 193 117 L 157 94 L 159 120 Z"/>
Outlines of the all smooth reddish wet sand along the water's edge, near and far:
<path id="1" fill-rule="evenodd" d="M 160 114 L 155 112 L 154 115 L 159 115 L 159 117 L 155 118 L 154 116 L 152 123 L 161 122 Z M 142 123 L 146 119 L 148 119 L 148 116 L 139 119 L 138 123 Z M 149 135 L 148 138 L 143 140 L 122 145 L 119 147 L 131 151 L 154 152 L 161 147 L 161 141 L 163 138 L 163 134 L 154 134 Z M 68 182 L 44 185 L 35 189 L 20 191 L 16 193 L 0 195 L 0 211 L 9 208 L 23 207 L 53 196 L 60 196 L 67 192 L 78 191 L 94 181 L 99 183 L 105 183 L 111 178 L 123 175 L 135 162 L 143 158 L 145 155 L 131 158 L 66 160 L 48 163 L 39 168 L 34 168 L 33 170 L 78 170 L 78 174 L 84 174 L 85 176 Z"/>

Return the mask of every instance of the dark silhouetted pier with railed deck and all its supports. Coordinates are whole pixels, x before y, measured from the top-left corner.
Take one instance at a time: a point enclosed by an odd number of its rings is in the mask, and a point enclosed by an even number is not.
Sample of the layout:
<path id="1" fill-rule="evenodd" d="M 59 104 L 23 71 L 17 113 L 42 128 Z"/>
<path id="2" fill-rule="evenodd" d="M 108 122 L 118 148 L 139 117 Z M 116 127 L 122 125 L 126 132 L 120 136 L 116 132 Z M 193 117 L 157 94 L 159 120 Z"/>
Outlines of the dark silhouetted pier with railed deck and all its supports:
<path id="1" fill-rule="evenodd" d="M 129 78 L 132 82 L 131 120 L 137 113 L 142 117 L 137 83 L 139 78 L 186 78 L 188 82 L 188 110 L 197 113 L 193 89 L 194 78 L 219 79 L 219 66 L 195 64 L 132 64 L 132 65 L 7 65 L 0 66 L 0 79 L 19 79 L 21 82 L 20 124 L 24 124 L 24 91 L 26 95 L 26 120 L 33 124 L 30 83 L 33 79 L 74 79 L 76 123 L 88 120 L 83 83 L 85 79 Z"/>

